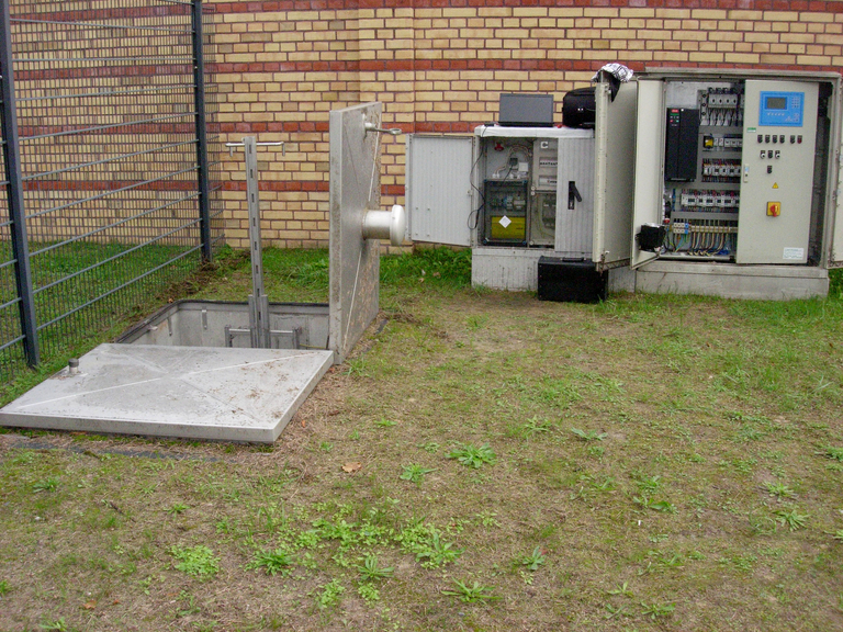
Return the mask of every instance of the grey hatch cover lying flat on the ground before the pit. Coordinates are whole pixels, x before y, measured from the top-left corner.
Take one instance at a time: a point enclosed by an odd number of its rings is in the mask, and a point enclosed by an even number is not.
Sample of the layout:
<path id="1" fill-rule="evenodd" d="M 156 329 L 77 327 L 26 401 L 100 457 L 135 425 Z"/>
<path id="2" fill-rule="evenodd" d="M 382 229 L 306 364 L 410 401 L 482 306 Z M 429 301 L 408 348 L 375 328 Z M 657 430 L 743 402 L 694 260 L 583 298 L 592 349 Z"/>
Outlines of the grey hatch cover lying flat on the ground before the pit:
<path id="1" fill-rule="evenodd" d="M 0 425 L 273 442 L 331 351 L 100 345 L 0 409 Z"/>

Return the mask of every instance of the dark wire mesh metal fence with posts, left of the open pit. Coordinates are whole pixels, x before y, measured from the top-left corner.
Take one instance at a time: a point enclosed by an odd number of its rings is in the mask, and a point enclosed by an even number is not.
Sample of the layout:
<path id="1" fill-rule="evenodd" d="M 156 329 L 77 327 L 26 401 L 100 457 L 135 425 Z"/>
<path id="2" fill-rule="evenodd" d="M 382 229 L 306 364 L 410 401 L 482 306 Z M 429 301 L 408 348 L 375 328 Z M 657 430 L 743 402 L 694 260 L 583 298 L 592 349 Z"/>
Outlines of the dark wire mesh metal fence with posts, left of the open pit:
<path id="1" fill-rule="evenodd" d="M 66 358 L 212 257 L 212 14 L 11 0 L 0 23 L 0 376 Z M 214 154 L 212 149 L 212 155 Z"/>

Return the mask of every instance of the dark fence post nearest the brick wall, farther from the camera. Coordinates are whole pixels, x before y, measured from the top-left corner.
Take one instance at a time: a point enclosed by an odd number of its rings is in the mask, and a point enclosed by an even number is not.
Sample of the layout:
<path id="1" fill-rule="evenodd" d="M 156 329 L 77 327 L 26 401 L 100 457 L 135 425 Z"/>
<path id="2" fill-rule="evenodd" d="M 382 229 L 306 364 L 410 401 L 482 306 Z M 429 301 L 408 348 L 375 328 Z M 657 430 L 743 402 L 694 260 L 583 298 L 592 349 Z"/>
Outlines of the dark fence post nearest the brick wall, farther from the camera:
<path id="1" fill-rule="evenodd" d="M 196 160 L 199 165 L 199 230 L 202 259 L 211 261 L 211 187 L 207 167 L 207 132 L 205 128 L 205 57 L 202 33 L 202 0 L 193 0 L 193 94 L 196 124 Z"/>

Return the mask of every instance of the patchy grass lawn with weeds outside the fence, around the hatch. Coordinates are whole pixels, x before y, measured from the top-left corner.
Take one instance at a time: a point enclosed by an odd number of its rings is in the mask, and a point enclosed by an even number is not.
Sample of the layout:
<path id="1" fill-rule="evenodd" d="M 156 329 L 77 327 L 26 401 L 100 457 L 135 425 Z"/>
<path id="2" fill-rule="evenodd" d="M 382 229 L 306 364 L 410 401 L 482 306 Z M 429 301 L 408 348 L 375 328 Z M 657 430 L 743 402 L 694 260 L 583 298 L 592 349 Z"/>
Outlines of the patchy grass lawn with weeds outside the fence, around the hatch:
<path id="1" fill-rule="evenodd" d="M 843 629 L 836 287 L 543 303 L 468 261 L 384 258 L 272 447 L 0 433 L 0 630 Z M 265 269 L 327 298 L 324 251 Z"/>

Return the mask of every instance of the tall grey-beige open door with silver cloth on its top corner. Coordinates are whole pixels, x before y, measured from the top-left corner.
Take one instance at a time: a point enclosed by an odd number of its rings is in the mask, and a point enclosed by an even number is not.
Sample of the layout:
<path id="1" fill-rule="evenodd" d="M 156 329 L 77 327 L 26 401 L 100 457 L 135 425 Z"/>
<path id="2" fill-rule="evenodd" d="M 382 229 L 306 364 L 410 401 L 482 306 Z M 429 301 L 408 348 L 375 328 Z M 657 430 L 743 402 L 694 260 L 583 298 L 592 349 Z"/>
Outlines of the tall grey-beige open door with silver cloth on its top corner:
<path id="1" fill-rule="evenodd" d="M 608 83 L 596 89 L 592 257 L 598 271 L 629 262 L 637 94 L 636 81 L 621 83 L 614 101 Z"/>

